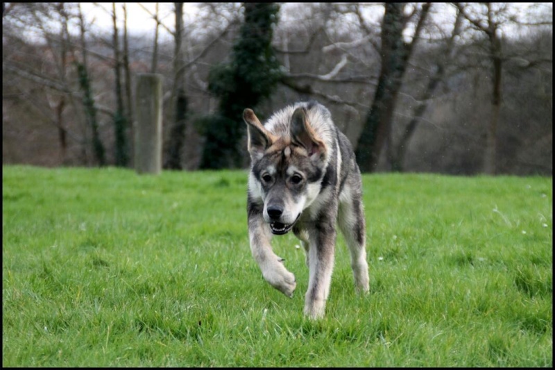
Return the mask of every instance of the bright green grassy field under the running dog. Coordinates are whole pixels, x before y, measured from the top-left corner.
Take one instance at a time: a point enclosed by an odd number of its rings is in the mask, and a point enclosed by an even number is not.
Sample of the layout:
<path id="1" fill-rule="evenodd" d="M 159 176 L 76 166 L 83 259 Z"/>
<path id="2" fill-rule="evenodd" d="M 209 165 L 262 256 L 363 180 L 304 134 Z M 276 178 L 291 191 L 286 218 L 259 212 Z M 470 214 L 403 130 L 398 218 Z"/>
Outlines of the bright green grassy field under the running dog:
<path id="1" fill-rule="evenodd" d="M 364 176 L 370 294 L 250 255 L 246 171 L 2 171 L 4 367 L 552 367 L 552 178 Z"/>

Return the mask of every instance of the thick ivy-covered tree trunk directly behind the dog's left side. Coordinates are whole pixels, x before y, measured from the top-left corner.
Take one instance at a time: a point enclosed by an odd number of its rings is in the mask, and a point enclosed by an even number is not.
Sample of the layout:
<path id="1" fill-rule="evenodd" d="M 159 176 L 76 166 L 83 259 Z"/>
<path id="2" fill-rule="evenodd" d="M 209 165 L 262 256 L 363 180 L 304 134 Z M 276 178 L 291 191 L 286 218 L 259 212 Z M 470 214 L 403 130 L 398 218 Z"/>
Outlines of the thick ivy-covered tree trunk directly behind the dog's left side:
<path id="1" fill-rule="evenodd" d="M 241 165 L 244 151 L 239 149 L 239 142 L 245 129 L 242 112 L 270 96 L 282 76 L 271 47 L 279 8 L 276 3 L 244 3 L 244 23 L 230 62 L 210 70 L 208 89 L 219 98 L 219 107 L 215 115 L 203 119 L 206 142 L 200 168 Z"/>

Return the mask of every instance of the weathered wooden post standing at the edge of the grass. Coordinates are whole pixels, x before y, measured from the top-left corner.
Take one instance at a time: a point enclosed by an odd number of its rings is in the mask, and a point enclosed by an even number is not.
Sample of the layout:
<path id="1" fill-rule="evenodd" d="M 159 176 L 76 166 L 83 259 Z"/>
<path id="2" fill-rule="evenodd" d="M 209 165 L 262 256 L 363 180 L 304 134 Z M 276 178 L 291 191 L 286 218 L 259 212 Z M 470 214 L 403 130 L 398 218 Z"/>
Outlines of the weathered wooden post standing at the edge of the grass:
<path id="1" fill-rule="evenodd" d="M 162 75 L 138 74 L 135 94 L 135 170 L 160 174 L 162 170 Z"/>

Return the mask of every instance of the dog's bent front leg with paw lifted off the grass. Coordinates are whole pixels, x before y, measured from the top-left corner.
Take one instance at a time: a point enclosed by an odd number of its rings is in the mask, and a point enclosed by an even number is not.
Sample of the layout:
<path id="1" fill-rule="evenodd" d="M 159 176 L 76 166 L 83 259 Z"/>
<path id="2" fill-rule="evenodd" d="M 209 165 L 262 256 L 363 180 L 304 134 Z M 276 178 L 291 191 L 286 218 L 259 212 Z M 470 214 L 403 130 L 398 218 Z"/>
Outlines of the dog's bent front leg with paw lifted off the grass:
<path id="1" fill-rule="evenodd" d="M 283 258 L 273 253 L 270 244 L 272 239 L 270 227 L 264 222 L 262 210 L 256 212 L 256 208 L 255 205 L 251 205 L 248 212 L 250 251 L 258 263 L 264 279 L 275 289 L 292 297 L 297 285 L 295 275 L 287 271 L 283 264 Z"/>

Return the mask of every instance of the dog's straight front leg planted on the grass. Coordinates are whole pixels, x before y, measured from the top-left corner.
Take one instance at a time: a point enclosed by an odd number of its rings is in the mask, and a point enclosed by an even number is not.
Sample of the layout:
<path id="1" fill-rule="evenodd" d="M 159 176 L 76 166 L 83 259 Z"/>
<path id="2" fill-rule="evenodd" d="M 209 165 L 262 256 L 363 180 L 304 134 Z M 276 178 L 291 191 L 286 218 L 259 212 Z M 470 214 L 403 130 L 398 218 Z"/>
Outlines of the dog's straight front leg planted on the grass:
<path id="1" fill-rule="evenodd" d="M 309 231 L 309 282 L 305 296 L 305 315 L 323 317 L 330 293 L 334 268 L 336 230 L 334 222 L 324 221 Z"/>

